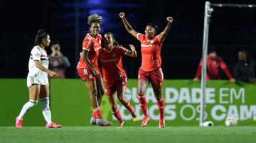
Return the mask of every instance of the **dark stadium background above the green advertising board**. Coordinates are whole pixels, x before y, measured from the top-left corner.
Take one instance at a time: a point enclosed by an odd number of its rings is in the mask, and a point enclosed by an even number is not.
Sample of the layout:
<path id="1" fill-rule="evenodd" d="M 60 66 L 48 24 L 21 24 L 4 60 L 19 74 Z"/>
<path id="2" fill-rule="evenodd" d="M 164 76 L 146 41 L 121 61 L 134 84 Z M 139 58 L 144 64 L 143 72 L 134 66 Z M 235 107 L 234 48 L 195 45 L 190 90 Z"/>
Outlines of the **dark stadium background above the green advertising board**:
<path id="1" fill-rule="evenodd" d="M 256 1 L 210 1 L 224 4 L 256 4 Z M 78 63 L 82 40 L 88 32 L 87 16 L 103 16 L 101 34 L 111 31 L 124 47 L 137 47 L 137 58 L 123 57 L 123 66 L 129 79 L 137 78 L 141 63 L 139 41 L 129 35 L 119 18 L 126 13 L 127 20 L 139 33 L 146 23 L 155 23 L 163 30 L 166 16 L 174 23 L 164 41 L 162 68 L 164 79 L 193 79 L 201 59 L 205 1 L 164 0 L 38 0 L 0 1 L 0 78 L 26 78 L 28 57 L 36 33 L 43 28 L 50 40 L 60 41 L 63 55 L 70 59 L 67 78 L 78 78 Z M 256 8 L 214 8 L 209 45 L 228 64 L 238 61 L 238 50 L 246 48 L 250 56 L 256 55 Z M 50 55 L 50 48 L 47 49 Z M 223 79 L 227 76 L 223 74 Z"/>

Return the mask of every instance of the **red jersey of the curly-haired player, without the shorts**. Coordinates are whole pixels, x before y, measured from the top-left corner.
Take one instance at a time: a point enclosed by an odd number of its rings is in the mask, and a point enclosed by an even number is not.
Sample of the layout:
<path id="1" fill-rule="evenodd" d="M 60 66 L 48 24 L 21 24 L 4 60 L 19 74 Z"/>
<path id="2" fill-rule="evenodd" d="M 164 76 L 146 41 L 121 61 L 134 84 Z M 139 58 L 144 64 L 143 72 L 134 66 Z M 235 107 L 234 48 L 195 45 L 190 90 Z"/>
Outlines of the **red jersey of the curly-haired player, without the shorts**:
<path id="1" fill-rule="evenodd" d="M 98 67 L 97 58 L 101 49 L 102 35 L 97 35 L 97 38 L 92 37 L 89 33 L 85 36 L 82 42 L 82 49 L 89 51 L 87 57 L 93 67 Z M 90 69 L 85 61 L 80 57 L 77 69 Z"/>

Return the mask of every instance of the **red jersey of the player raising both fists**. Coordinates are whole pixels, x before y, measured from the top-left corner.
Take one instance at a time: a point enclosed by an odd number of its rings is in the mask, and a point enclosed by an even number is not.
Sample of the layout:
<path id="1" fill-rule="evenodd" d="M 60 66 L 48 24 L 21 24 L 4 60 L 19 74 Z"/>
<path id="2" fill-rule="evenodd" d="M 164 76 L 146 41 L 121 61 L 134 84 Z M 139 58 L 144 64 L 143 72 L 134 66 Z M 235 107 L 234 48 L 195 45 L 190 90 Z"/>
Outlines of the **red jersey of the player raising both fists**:
<path id="1" fill-rule="evenodd" d="M 144 71 L 154 71 L 161 67 L 161 47 L 164 40 L 159 39 L 156 35 L 152 40 L 146 40 L 146 35 L 137 34 L 137 39 L 141 42 L 142 47 L 142 69 Z"/>

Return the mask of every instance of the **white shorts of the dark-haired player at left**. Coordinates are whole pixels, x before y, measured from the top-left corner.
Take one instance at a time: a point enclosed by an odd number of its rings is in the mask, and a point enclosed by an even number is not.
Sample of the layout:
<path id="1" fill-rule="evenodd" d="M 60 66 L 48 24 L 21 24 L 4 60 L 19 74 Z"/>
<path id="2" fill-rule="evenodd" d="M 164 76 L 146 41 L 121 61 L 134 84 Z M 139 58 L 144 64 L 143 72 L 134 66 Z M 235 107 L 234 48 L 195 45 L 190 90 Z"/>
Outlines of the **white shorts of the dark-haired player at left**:
<path id="1" fill-rule="evenodd" d="M 47 75 L 47 74 L 46 74 Z M 30 88 L 33 84 L 47 85 L 49 83 L 47 76 L 32 76 L 28 73 L 27 86 Z"/>

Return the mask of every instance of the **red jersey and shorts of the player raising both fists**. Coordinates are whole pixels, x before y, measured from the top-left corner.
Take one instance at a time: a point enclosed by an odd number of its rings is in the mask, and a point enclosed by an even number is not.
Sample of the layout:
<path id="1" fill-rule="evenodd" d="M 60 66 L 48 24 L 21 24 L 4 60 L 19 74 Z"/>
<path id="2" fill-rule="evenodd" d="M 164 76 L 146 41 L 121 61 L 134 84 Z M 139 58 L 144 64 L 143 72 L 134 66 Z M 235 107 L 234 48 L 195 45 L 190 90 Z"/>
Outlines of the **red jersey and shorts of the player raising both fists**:
<path id="1" fill-rule="evenodd" d="M 164 40 L 156 35 L 152 40 L 146 40 L 146 35 L 137 34 L 142 47 L 142 67 L 138 72 L 138 79 L 150 81 L 151 84 L 161 87 L 164 74 L 161 70 L 161 47 Z"/>

